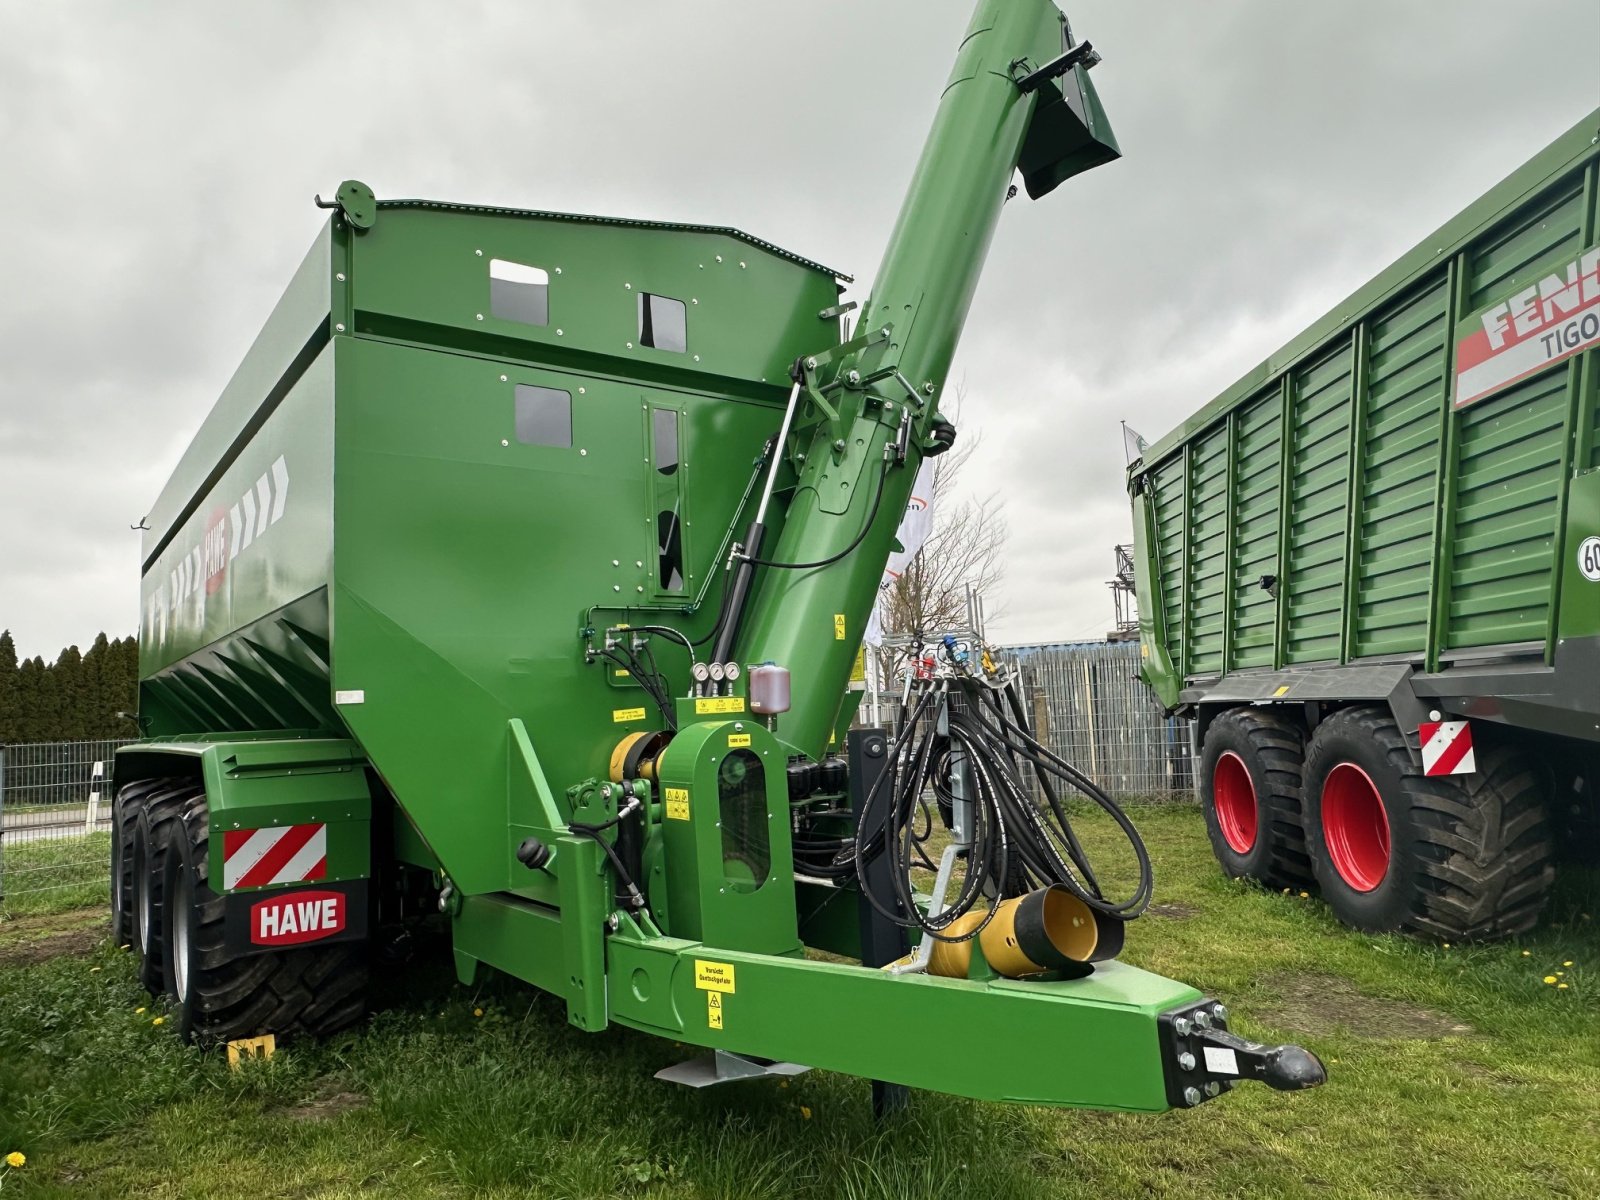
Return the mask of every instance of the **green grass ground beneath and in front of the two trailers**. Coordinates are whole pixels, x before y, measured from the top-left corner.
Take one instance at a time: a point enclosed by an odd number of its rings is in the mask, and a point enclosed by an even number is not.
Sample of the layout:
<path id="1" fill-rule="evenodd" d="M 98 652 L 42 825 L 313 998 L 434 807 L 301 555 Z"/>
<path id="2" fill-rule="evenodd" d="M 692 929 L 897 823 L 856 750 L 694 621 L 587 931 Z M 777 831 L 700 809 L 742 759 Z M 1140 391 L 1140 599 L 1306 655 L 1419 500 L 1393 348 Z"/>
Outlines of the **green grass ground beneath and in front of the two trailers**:
<path id="1" fill-rule="evenodd" d="M 230 1072 L 157 1024 L 104 917 L 0 922 L 5 1197 L 1590 1197 L 1600 1195 L 1600 896 L 1570 870 L 1520 944 L 1341 930 L 1315 899 L 1219 877 L 1200 818 L 1144 808 L 1158 909 L 1126 960 L 1298 1040 L 1325 1088 L 1245 1086 L 1194 1112 L 1050 1112 L 802 1075 L 694 1093 L 685 1051 L 579 1034 L 443 963 L 390 982 L 358 1034 Z M 1085 819 L 1091 845 L 1110 830 Z M 1554 978 L 1555 984 L 1544 982 Z M 1558 984 L 1566 984 L 1560 987 Z M 482 1013 L 482 1016 L 478 1014 Z M 968 1054 L 966 1030 L 906 1030 Z M 1062 1030 L 1070 1037 L 1070 1030 Z"/>

